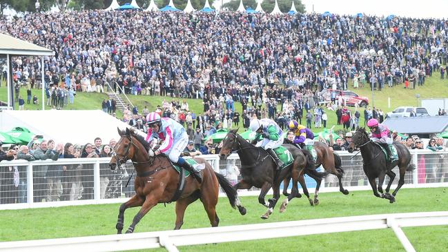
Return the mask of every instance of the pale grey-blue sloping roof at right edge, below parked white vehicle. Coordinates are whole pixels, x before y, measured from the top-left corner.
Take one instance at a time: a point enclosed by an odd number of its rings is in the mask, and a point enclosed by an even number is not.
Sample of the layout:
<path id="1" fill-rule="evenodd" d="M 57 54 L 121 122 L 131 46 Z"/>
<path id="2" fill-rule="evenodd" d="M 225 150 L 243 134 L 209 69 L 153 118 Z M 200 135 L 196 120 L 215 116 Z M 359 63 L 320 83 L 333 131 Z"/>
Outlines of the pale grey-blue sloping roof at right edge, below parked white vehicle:
<path id="1" fill-rule="evenodd" d="M 448 116 L 388 118 L 383 124 L 407 134 L 441 133 L 448 127 Z"/>

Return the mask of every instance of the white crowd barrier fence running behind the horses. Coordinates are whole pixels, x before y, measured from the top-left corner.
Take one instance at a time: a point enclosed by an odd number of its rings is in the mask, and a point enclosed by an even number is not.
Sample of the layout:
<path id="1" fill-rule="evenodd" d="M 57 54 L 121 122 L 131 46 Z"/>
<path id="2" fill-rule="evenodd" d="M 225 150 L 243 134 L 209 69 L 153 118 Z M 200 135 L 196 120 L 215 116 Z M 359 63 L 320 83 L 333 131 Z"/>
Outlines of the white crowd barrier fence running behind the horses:
<path id="1" fill-rule="evenodd" d="M 338 154 L 344 169 L 343 185 L 350 191 L 371 190 L 362 171 L 361 155 L 347 151 Z M 448 186 L 448 151 L 411 150 L 411 155 L 416 168 L 407 172 L 405 188 Z M 240 159 L 236 154 L 226 160 L 220 160 L 218 155 L 201 157 L 232 184 L 241 179 L 238 175 Z M 124 202 L 134 194 L 133 164 L 127 162 L 121 169 L 111 171 L 109 160 L 104 157 L 0 162 L 0 210 Z M 393 171 L 397 174 L 393 184 L 397 184 L 398 167 Z M 385 184 L 389 181 L 386 178 Z M 309 177 L 306 177 L 306 185 L 313 192 L 315 183 Z M 321 188 L 321 192 L 338 191 L 337 178 L 327 176 Z M 243 196 L 258 193 L 258 188 L 239 191 Z"/>

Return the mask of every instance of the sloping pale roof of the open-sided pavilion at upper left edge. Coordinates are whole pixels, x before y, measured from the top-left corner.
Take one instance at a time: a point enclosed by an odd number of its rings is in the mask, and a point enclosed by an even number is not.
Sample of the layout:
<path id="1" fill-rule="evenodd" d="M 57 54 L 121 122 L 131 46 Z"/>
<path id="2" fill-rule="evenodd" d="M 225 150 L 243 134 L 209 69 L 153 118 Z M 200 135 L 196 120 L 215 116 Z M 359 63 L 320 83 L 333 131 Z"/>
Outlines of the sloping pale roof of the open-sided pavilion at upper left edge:
<path id="1" fill-rule="evenodd" d="M 37 46 L 34 43 L 16 39 L 6 34 L 0 33 L 0 55 L 31 55 L 50 56 L 54 55 L 50 49 Z"/>

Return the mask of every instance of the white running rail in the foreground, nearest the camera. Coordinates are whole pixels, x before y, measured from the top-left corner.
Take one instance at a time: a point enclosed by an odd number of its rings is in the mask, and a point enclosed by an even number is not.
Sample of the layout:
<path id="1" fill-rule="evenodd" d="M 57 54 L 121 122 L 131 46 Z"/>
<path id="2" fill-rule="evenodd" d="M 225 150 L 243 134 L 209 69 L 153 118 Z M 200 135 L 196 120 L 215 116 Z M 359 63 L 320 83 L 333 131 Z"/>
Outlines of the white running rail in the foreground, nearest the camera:
<path id="1" fill-rule="evenodd" d="M 405 250 L 410 252 L 416 250 L 413 249 L 411 242 L 400 227 L 436 225 L 448 225 L 447 211 L 334 217 L 126 235 L 1 242 L 0 251 L 126 251 L 165 247 L 170 252 L 177 252 L 177 246 L 391 228 Z"/>

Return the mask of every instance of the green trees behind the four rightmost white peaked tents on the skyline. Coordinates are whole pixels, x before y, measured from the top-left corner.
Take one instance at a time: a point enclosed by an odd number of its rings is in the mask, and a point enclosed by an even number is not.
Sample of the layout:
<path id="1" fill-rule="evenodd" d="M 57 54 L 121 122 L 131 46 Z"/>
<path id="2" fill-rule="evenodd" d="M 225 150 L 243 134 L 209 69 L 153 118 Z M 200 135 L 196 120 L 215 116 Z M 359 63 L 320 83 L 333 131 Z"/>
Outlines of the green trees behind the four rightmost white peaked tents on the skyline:
<path id="1" fill-rule="evenodd" d="M 278 8 L 284 13 L 289 12 L 291 10 L 291 0 L 277 0 Z M 300 0 L 294 0 L 295 9 L 300 12 L 305 12 L 305 6 L 302 4 L 302 1 Z M 222 6 L 226 10 L 232 10 L 235 11 L 238 9 L 238 6 L 240 6 L 240 0 L 233 0 L 228 3 L 224 3 L 224 6 Z M 255 0 L 244 0 L 243 1 L 244 8 L 257 8 L 257 3 Z M 262 8 L 265 12 L 272 12 L 275 6 L 275 0 L 267 0 L 262 2 Z"/>

